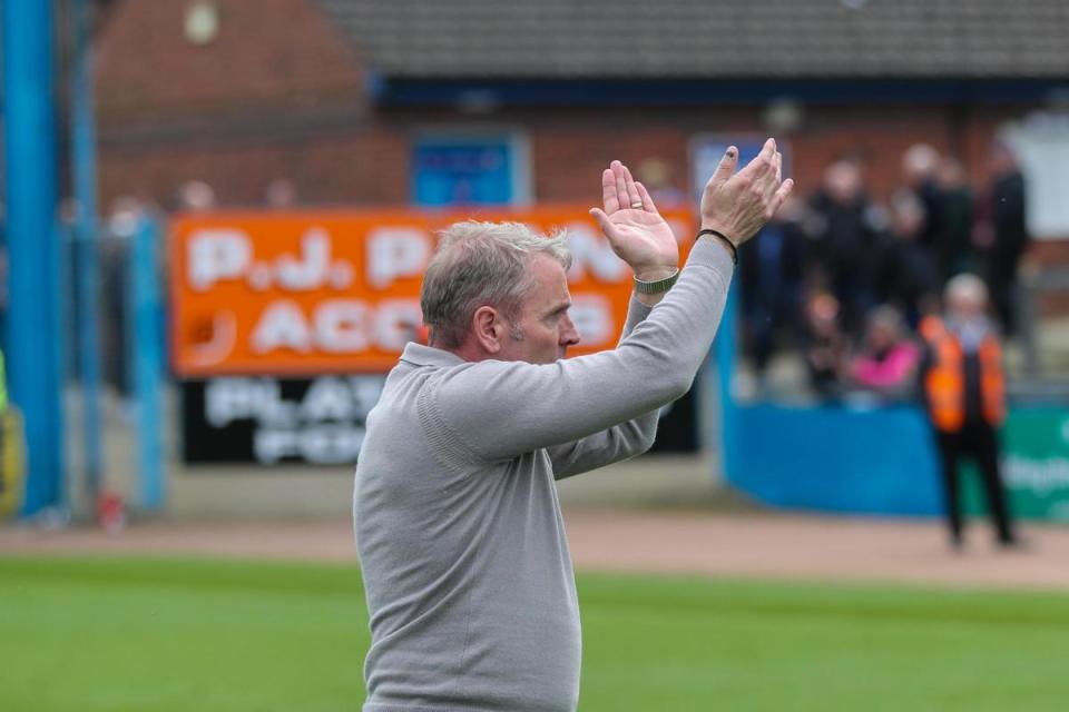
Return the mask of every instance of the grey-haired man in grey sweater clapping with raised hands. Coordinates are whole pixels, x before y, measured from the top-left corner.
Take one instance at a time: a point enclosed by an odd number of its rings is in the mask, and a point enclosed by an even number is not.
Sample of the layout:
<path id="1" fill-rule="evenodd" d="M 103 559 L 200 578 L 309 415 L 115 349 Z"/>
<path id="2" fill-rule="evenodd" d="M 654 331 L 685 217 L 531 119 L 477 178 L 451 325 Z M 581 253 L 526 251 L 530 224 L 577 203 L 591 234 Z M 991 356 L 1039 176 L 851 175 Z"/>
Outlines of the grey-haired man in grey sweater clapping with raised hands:
<path id="1" fill-rule="evenodd" d="M 594 209 L 635 273 L 615 349 L 579 343 L 563 236 L 513 222 L 448 228 L 423 279 L 429 345 L 390 373 L 356 467 L 354 516 L 372 643 L 365 712 L 576 709 L 580 627 L 555 479 L 645 452 L 657 411 L 713 343 L 739 244 L 792 181 L 769 139 L 720 161 L 702 233 L 676 237 L 627 167 Z"/>

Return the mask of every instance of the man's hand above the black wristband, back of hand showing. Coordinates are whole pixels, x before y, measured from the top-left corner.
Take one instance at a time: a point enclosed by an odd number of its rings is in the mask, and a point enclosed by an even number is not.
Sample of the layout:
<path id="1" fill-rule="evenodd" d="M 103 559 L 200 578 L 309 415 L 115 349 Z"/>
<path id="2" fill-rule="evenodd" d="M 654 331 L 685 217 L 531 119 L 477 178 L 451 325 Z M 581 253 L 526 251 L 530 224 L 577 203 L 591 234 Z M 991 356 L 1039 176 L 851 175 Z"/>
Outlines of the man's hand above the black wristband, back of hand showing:
<path id="1" fill-rule="evenodd" d="M 772 138 L 735 174 L 737 164 L 738 149 L 732 146 L 702 194 L 702 229 L 717 230 L 742 245 L 772 219 L 791 195 L 794 181 L 782 179 L 783 156 Z"/>

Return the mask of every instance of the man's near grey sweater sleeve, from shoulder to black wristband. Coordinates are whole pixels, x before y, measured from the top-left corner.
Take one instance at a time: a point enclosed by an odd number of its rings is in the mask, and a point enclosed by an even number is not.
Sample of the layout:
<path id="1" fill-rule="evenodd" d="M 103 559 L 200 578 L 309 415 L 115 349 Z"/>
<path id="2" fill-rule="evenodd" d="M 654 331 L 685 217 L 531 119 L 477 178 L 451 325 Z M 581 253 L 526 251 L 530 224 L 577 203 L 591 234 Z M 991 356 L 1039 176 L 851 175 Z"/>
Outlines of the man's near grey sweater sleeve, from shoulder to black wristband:
<path id="1" fill-rule="evenodd" d="M 690 387 L 716 335 L 732 270 L 724 248 L 702 238 L 671 291 L 615 349 L 553 364 L 484 360 L 443 369 L 420 399 L 421 421 L 453 456 L 467 452 L 475 462 L 510 459 L 620 424 L 628 424 L 620 437 L 641 441 L 649 428 L 628 422 L 655 418 Z M 628 447 L 621 443 L 619 452 Z"/>

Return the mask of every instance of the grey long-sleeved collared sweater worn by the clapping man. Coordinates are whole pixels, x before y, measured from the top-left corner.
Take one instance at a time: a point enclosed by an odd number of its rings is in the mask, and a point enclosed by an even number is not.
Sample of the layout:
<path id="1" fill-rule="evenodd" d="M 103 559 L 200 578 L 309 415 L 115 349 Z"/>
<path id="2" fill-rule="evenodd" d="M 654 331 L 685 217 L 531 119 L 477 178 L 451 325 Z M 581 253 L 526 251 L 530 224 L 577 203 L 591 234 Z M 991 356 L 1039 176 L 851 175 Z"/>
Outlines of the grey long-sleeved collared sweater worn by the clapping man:
<path id="1" fill-rule="evenodd" d="M 555 478 L 649 448 L 713 343 L 732 261 L 702 238 L 619 345 L 549 365 L 409 344 L 367 417 L 353 501 L 365 712 L 570 712 L 581 641 Z"/>

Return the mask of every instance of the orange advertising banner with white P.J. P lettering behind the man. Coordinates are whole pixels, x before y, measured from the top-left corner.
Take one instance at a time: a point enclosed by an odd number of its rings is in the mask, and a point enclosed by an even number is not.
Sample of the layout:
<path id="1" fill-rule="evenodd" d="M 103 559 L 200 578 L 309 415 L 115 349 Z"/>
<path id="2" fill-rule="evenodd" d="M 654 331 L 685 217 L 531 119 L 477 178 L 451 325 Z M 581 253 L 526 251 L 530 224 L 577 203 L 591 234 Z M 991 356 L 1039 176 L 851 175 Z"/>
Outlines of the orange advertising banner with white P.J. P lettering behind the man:
<path id="1" fill-rule="evenodd" d="M 437 231 L 457 220 L 517 220 L 570 236 L 570 354 L 611 348 L 631 270 L 583 207 L 468 212 L 263 211 L 179 216 L 170 229 L 175 372 L 315 375 L 382 373 L 422 324 L 420 284 Z M 666 211 L 684 257 L 693 218 Z"/>

